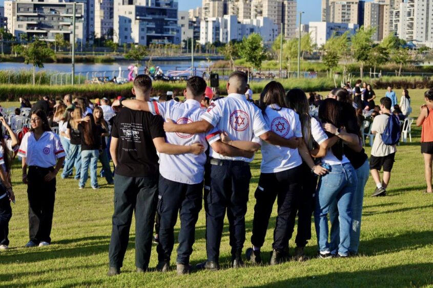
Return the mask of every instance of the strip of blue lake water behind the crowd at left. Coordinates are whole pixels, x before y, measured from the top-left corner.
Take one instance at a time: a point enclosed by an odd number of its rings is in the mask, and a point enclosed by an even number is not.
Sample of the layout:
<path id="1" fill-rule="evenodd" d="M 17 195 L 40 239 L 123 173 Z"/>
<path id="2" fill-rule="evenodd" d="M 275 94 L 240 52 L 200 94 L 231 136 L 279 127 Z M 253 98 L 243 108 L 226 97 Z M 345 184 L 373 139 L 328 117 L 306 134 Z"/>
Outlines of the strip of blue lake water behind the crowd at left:
<path id="1" fill-rule="evenodd" d="M 133 65 L 134 61 L 118 61 L 114 63 L 75 63 L 75 73 L 83 73 L 87 72 L 106 72 L 106 76 L 111 76 L 113 72 L 115 75 L 118 74 L 119 67 L 122 71 L 127 72 L 128 66 Z M 141 62 L 139 67 L 139 73 L 143 72 L 146 63 Z M 167 73 L 169 70 L 187 70 L 191 67 L 191 61 L 152 61 L 152 65 L 154 67 L 159 66 L 164 73 Z M 207 61 L 195 61 L 194 67 L 197 69 L 205 69 L 208 67 Z M 24 63 L 15 63 L 15 62 L 0 62 L 0 70 L 30 70 L 32 69 L 32 65 L 26 65 Z M 47 72 L 52 73 L 70 73 L 71 72 L 71 64 L 70 63 L 47 63 L 44 64 L 44 68 L 36 68 L 37 71 L 45 70 Z M 128 73 L 128 72 L 127 72 Z"/>

